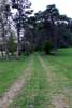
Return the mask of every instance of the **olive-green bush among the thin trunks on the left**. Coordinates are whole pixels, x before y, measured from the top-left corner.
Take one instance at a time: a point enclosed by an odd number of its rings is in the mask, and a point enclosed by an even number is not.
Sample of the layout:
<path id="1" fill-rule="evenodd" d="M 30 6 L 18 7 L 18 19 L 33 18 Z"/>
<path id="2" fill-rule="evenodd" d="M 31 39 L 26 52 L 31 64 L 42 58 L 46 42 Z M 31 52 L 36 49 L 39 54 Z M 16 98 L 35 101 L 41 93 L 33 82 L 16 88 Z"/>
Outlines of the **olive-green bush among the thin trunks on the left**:
<path id="1" fill-rule="evenodd" d="M 8 50 L 9 52 L 14 53 L 14 51 L 16 51 L 16 48 L 17 46 L 16 43 L 14 42 L 14 38 L 13 36 L 11 36 L 8 41 Z"/>

